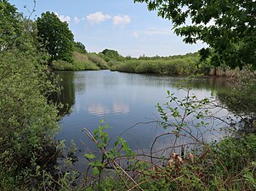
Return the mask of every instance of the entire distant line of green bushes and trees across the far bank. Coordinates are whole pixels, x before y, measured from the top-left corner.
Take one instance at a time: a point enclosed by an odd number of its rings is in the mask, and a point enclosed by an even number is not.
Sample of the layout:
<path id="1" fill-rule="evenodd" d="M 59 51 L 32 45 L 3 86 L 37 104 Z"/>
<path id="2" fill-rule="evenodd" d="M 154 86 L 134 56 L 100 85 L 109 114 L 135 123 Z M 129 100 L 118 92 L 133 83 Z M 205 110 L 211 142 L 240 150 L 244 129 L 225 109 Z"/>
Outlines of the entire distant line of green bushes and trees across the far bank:
<path id="1" fill-rule="evenodd" d="M 81 42 L 76 44 L 81 45 Z M 54 70 L 112 70 L 139 74 L 160 75 L 207 75 L 233 76 L 234 72 L 228 66 L 215 68 L 208 60 L 202 61 L 200 53 L 186 53 L 174 56 L 140 56 L 123 57 L 116 50 L 105 49 L 100 53 L 88 53 L 76 45 L 72 61 L 54 60 Z"/>

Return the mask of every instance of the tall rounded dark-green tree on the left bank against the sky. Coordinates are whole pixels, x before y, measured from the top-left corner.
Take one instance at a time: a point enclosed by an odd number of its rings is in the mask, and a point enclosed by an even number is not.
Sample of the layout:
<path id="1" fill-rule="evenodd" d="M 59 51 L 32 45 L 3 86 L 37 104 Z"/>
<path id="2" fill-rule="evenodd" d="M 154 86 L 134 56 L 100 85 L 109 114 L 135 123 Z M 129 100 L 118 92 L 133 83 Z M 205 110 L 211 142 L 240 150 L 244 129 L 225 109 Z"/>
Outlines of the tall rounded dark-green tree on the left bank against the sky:
<path id="1" fill-rule="evenodd" d="M 74 36 L 66 22 L 61 22 L 54 13 L 46 12 L 37 19 L 39 42 L 50 56 L 49 62 L 63 59 L 71 62 Z"/>

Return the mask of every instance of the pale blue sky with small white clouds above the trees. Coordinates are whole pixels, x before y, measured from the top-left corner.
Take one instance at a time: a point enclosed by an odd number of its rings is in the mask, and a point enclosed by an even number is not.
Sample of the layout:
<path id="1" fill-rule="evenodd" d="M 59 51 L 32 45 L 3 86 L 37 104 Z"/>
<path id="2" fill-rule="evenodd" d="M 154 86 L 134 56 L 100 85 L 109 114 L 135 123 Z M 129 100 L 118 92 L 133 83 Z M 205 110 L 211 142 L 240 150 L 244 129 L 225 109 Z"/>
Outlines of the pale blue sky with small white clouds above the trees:
<path id="1" fill-rule="evenodd" d="M 29 15 L 33 2 L 9 0 L 25 15 Z M 108 48 L 123 56 L 168 56 L 206 47 L 202 42 L 185 44 L 174 34 L 170 20 L 163 20 L 156 11 L 148 11 L 145 3 L 134 0 L 37 0 L 35 9 L 31 19 L 50 11 L 68 22 L 75 41 L 82 42 L 88 52 Z"/>

